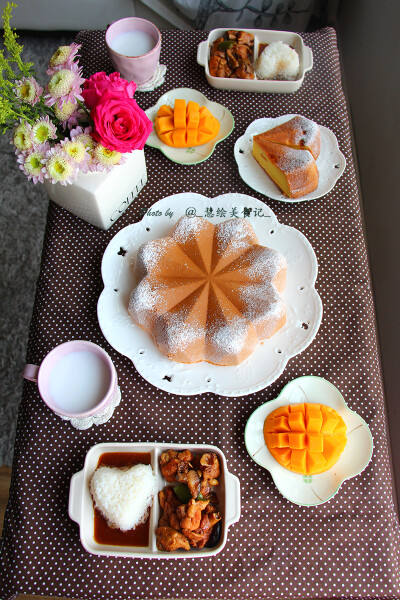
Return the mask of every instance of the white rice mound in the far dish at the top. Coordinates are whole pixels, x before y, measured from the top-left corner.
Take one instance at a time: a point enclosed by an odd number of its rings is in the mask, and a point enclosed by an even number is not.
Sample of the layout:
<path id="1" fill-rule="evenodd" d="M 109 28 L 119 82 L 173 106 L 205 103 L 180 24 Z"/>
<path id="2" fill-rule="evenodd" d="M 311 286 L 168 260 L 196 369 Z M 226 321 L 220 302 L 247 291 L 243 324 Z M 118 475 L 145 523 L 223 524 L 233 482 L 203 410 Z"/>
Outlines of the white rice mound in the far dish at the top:
<path id="1" fill-rule="evenodd" d="M 264 48 L 255 65 L 258 79 L 293 80 L 298 77 L 299 68 L 296 50 L 281 41 Z"/>

